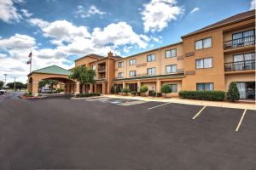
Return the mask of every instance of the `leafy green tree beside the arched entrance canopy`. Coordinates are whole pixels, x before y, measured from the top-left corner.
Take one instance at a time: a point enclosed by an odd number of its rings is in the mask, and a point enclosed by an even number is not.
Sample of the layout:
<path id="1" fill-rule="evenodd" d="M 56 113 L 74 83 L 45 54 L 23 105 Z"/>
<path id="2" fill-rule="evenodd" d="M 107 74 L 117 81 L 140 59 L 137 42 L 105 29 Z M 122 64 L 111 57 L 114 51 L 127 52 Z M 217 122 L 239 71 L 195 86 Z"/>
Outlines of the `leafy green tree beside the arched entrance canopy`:
<path id="1" fill-rule="evenodd" d="M 96 72 L 86 66 L 79 66 L 74 68 L 69 75 L 69 78 L 77 80 L 81 84 L 95 84 Z"/>

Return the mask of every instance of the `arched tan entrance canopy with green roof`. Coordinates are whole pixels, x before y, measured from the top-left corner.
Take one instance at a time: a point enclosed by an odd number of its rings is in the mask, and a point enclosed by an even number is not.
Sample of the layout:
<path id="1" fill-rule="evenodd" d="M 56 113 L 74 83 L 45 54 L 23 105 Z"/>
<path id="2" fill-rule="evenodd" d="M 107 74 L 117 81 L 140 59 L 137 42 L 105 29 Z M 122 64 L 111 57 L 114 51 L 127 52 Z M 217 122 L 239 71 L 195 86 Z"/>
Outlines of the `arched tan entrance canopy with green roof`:
<path id="1" fill-rule="evenodd" d="M 77 82 L 68 78 L 70 71 L 57 65 L 51 65 L 32 71 L 28 77 L 27 89 L 29 93 L 38 94 L 38 82 L 45 79 L 56 80 L 67 84 L 76 85 Z"/>

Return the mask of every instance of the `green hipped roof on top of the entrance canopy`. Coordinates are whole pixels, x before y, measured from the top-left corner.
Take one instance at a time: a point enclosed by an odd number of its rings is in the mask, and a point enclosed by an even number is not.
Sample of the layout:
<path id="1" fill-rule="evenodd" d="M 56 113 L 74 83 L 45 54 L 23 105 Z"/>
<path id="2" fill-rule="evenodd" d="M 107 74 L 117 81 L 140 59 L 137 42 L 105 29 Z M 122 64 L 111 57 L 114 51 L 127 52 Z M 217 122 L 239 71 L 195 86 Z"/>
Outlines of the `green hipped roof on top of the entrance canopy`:
<path id="1" fill-rule="evenodd" d="M 42 69 L 38 69 L 36 71 L 32 71 L 32 73 L 43 73 L 43 74 L 56 74 L 56 75 L 69 75 L 69 71 L 61 68 L 57 65 L 51 65 L 48 67 L 44 67 Z"/>

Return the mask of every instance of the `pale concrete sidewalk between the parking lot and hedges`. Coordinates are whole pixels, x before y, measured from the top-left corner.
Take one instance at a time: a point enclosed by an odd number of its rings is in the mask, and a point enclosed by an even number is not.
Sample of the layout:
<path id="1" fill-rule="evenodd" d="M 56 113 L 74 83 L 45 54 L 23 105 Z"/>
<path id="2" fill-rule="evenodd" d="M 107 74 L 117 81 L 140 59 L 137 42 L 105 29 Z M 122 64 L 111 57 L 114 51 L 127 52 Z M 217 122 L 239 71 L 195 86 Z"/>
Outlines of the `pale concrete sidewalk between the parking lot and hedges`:
<path id="1" fill-rule="evenodd" d="M 102 95 L 107 98 L 119 98 L 119 99 L 140 99 L 145 101 L 157 101 L 157 102 L 172 102 L 177 104 L 185 105 L 207 105 L 214 107 L 225 107 L 225 108 L 234 108 L 234 109 L 248 109 L 256 110 L 255 103 L 230 103 L 225 101 L 205 101 L 205 100 L 195 100 L 195 99 L 180 99 L 180 98 L 153 98 L 153 97 L 141 97 L 141 96 L 121 96 L 121 95 Z"/>

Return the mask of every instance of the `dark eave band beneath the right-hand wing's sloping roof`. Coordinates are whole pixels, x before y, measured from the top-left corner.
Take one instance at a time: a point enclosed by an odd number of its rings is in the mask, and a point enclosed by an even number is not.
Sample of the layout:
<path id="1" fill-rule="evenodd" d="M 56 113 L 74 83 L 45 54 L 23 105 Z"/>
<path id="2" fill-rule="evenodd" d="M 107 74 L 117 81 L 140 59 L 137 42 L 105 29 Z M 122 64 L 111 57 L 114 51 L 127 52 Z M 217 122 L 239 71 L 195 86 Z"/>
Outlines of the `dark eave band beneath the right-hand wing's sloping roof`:
<path id="1" fill-rule="evenodd" d="M 254 15 L 251 15 L 251 16 L 247 16 L 245 18 L 242 18 L 242 19 L 239 19 L 239 20 L 234 20 L 234 21 L 230 21 L 230 22 L 227 22 L 227 23 L 224 23 L 224 24 L 221 24 L 219 26 L 212 26 L 212 27 L 209 27 L 205 30 L 201 30 L 201 31 L 194 31 L 194 32 L 191 32 L 189 34 L 186 34 L 184 36 L 182 36 L 181 38 L 186 38 L 186 37 L 191 37 L 191 36 L 195 36 L 197 34 L 201 34 L 203 32 L 207 32 L 207 31 L 212 31 L 212 30 L 215 30 L 215 29 L 218 29 L 218 28 L 221 28 L 221 27 L 224 27 L 224 26 L 230 26 L 232 24 L 236 24 L 237 22 L 241 22 L 243 20 L 250 20 L 250 19 L 253 19 L 255 18 L 255 14 Z M 210 25 L 211 26 L 211 25 Z M 203 29 L 203 28 L 202 28 Z"/>

